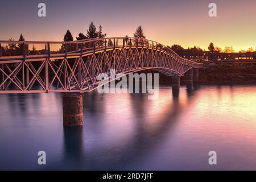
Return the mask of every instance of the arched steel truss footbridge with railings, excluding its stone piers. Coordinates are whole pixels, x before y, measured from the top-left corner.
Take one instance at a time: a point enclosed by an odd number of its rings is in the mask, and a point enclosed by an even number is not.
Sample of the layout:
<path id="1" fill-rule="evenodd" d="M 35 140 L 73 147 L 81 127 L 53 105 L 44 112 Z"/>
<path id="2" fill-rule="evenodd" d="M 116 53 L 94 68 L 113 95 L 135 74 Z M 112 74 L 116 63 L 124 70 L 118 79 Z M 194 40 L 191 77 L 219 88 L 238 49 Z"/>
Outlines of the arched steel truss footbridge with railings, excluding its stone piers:
<path id="1" fill-rule="evenodd" d="M 11 46 L 18 48 L 11 50 Z M 90 92 L 101 83 L 97 76 L 110 75 L 110 69 L 116 75 L 156 69 L 183 76 L 191 68 L 202 67 L 146 39 L 0 41 L 0 93 Z"/>

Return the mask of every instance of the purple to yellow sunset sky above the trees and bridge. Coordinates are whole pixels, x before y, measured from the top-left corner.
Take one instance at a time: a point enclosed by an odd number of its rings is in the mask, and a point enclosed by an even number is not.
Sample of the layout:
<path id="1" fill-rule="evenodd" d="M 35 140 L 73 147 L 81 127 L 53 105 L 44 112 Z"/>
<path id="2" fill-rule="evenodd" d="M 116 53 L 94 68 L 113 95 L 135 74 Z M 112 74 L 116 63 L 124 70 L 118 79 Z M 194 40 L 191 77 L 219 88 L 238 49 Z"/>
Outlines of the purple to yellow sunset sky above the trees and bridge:
<path id="1" fill-rule="evenodd" d="M 38 3 L 46 3 L 47 16 L 38 16 Z M 217 4 L 217 17 L 210 18 L 208 5 Z M 103 27 L 108 37 L 133 36 L 141 25 L 147 39 L 184 48 L 210 42 L 235 51 L 256 48 L 256 1 L 202 0 L 98 0 L 98 1 L 1 1 L 0 39 L 61 41 L 67 30 L 73 38 L 86 34 L 89 23 Z"/>

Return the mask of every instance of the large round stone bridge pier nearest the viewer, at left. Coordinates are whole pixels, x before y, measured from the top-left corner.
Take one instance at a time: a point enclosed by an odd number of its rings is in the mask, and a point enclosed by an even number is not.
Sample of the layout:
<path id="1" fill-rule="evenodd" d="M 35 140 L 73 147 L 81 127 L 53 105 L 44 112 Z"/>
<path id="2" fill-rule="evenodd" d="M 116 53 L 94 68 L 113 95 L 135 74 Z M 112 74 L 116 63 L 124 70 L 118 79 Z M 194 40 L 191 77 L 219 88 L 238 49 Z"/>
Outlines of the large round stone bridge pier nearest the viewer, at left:
<path id="1" fill-rule="evenodd" d="M 82 98 L 84 94 L 79 92 L 63 93 L 63 125 L 82 126 Z"/>

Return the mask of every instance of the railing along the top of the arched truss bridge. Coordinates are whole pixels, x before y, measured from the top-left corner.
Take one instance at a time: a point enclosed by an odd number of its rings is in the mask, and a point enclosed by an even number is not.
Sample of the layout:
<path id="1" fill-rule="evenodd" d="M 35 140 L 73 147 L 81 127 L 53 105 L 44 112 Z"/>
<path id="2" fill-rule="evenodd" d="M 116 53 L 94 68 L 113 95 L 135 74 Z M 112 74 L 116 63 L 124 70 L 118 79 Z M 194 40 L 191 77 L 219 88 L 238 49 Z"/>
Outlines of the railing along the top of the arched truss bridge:
<path id="1" fill-rule="evenodd" d="M 73 42 L 40 42 L 40 41 L 0 41 L 0 61 L 11 57 L 13 60 L 24 59 L 25 57 L 50 57 L 52 55 L 68 56 L 79 55 L 86 52 L 98 51 L 100 49 L 139 47 L 163 51 L 174 57 L 176 61 L 183 64 L 197 65 L 180 57 L 170 47 L 147 39 L 115 37 L 102 39 L 85 39 Z"/>

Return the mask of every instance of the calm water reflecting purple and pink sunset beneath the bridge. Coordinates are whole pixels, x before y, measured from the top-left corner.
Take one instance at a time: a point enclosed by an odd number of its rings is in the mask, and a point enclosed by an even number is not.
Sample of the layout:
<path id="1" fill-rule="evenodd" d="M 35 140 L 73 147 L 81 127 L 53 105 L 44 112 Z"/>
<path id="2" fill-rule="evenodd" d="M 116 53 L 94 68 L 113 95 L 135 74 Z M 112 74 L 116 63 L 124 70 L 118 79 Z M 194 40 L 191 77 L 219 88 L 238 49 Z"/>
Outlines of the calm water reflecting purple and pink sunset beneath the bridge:
<path id="1" fill-rule="evenodd" d="M 256 86 L 147 98 L 86 93 L 84 126 L 65 129 L 61 94 L 0 95 L 0 169 L 256 169 Z"/>

